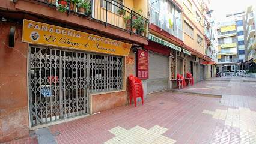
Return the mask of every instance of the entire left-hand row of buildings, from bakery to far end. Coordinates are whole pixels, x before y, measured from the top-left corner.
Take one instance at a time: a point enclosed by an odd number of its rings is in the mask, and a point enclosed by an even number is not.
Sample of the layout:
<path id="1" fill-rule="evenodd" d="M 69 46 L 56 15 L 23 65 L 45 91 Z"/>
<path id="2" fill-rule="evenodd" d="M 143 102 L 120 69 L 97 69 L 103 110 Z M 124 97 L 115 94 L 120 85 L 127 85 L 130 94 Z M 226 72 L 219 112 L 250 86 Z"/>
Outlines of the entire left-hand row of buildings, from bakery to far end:
<path id="1" fill-rule="evenodd" d="M 0 143 L 128 104 L 130 75 L 144 98 L 216 76 L 209 1 L 0 3 Z"/>

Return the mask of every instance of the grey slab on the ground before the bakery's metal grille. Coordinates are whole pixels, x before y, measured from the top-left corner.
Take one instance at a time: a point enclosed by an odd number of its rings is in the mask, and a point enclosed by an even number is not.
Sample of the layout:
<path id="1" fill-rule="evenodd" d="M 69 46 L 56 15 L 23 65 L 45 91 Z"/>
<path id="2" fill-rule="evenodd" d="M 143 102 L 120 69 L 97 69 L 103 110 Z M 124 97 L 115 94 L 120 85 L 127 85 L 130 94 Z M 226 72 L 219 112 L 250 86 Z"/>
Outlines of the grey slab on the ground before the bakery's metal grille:
<path id="1" fill-rule="evenodd" d="M 56 144 L 56 140 L 54 139 L 52 133 L 49 128 L 41 128 L 35 131 L 37 136 L 38 143 L 47 143 L 47 144 Z"/>

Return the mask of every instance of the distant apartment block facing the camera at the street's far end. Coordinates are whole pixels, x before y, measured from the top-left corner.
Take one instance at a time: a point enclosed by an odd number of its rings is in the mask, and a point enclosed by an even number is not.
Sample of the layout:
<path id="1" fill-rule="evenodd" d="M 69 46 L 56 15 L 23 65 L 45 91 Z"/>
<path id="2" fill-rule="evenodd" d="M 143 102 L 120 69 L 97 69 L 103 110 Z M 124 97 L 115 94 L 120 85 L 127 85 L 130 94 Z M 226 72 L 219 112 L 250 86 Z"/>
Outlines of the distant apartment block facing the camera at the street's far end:
<path id="1" fill-rule="evenodd" d="M 249 70 L 244 64 L 248 56 L 246 13 L 239 11 L 226 17 L 218 24 L 219 71 L 226 76 L 234 76 L 242 70 Z"/>

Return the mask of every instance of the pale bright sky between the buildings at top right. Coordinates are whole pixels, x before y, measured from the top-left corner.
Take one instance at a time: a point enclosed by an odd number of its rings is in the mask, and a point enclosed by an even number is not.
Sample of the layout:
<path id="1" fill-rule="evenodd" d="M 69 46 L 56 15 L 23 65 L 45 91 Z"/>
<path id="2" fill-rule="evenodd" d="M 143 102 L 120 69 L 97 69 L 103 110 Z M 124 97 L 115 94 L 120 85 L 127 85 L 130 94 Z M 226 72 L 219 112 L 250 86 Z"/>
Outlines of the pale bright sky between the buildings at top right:
<path id="1" fill-rule="evenodd" d="M 214 10 L 217 21 L 225 19 L 226 14 L 246 11 L 249 5 L 255 8 L 256 0 L 210 0 L 210 9 Z"/>

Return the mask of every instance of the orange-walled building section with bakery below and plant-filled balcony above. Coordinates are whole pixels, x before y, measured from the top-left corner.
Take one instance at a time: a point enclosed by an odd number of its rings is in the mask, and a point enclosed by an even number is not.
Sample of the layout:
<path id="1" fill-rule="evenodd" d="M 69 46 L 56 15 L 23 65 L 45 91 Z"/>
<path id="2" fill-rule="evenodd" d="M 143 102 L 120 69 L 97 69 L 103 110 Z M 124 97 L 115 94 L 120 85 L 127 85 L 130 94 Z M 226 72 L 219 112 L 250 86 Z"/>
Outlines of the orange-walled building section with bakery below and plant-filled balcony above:
<path id="1" fill-rule="evenodd" d="M 147 1 L 0 4 L 0 143 L 129 103 Z"/>

